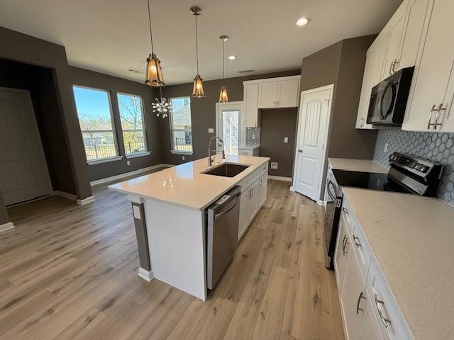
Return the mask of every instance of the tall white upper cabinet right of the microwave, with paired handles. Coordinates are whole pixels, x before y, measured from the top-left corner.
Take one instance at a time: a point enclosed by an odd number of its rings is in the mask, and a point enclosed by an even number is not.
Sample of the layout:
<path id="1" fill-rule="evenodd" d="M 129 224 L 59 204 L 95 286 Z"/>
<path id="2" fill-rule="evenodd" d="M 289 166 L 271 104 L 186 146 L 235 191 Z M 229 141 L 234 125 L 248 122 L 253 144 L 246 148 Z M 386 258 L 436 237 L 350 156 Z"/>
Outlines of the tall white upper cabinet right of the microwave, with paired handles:
<path id="1" fill-rule="evenodd" d="M 435 1 L 416 62 L 403 130 L 454 131 L 454 1 Z"/>

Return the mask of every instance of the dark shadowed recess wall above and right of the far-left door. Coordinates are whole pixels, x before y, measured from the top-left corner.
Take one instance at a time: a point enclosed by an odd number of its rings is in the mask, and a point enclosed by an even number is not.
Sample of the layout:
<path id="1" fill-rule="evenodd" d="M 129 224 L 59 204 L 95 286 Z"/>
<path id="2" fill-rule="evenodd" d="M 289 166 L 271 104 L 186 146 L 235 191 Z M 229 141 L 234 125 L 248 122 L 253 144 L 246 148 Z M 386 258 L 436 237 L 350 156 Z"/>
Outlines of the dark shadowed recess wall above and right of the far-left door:
<path id="1" fill-rule="evenodd" d="M 0 86 L 30 91 L 54 190 L 75 193 L 52 70 L 0 59 Z"/>

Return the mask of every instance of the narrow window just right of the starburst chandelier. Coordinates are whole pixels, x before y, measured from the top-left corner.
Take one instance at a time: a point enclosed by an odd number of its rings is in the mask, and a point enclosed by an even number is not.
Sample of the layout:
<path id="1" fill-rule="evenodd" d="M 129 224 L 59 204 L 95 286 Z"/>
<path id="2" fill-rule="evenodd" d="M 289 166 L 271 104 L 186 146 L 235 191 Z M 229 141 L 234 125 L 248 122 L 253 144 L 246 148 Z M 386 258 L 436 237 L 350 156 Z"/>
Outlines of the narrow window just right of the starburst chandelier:
<path id="1" fill-rule="evenodd" d="M 172 149 L 192 152 L 191 97 L 171 98 L 170 130 Z"/>

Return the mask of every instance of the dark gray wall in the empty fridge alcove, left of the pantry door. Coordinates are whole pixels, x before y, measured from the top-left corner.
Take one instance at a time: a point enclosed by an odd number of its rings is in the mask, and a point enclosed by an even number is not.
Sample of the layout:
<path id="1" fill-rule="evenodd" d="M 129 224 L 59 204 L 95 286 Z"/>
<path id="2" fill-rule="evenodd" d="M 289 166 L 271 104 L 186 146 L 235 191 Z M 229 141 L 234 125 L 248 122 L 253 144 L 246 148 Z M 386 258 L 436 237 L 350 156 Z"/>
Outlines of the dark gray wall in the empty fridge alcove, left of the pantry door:
<path id="1" fill-rule="evenodd" d="M 272 176 L 292 177 L 297 113 L 297 108 L 260 110 L 260 156 L 278 163 L 277 169 L 268 169 Z"/>

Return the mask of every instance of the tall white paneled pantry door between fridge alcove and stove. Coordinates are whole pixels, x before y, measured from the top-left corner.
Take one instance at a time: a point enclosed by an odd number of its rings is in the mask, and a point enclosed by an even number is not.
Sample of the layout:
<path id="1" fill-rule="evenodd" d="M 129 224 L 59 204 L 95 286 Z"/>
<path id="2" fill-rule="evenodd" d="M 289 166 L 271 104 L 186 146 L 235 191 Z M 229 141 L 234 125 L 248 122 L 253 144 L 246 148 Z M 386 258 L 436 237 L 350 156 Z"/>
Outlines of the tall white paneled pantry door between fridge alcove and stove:
<path id="1" fill-rule="evenodd" d="M 333 85 L 301 94 L 294 189 L 313 200 L 320 199 L 332 94 Z"/>

